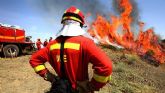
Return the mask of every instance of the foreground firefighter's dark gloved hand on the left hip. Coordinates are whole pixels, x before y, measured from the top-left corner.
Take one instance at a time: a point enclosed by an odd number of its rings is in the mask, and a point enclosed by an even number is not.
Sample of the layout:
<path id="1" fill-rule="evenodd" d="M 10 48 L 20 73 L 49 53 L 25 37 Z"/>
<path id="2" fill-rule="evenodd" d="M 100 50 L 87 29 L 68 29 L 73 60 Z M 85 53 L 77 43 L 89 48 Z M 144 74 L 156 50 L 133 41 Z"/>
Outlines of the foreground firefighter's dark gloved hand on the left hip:
<path id="1" fill-rule="evenodd" d="M 44 75 L 44 80 L 53 83 L 53 82 L 55 82 L 57 80 L 57 76 L 55 76 L 54 74 L 52 74 L 50 72 L 47 72 Z"/>

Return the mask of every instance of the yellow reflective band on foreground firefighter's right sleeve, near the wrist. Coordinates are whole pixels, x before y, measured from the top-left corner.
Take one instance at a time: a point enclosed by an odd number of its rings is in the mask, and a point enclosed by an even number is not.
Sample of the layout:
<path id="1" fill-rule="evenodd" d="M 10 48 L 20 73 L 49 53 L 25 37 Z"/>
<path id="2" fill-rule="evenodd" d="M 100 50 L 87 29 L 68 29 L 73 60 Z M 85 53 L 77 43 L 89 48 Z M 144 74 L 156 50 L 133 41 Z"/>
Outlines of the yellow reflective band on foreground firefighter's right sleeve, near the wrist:
<path id="1" fill-rule="evenodd" d="M 97 82 L 106 83 L 111 80 L 111 75 L 110 76 L 100 76 L 100 75 L 94 73 L 93 78 Z"/>

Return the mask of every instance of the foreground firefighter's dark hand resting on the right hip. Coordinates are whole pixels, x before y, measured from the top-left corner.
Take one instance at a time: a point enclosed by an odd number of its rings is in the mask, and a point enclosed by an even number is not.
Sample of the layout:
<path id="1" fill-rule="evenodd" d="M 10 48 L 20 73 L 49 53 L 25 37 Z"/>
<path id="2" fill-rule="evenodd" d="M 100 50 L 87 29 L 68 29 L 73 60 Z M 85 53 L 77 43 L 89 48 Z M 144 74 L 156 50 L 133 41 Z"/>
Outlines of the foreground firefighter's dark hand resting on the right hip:
<path id="1" fill-rule="evenodd" d="M 96 89 L 94 85 L 92 85 L 88 80 L 86 81 L 78 81 L 77 82 L 77 90 L 80 93 L 93 93 Z"/>

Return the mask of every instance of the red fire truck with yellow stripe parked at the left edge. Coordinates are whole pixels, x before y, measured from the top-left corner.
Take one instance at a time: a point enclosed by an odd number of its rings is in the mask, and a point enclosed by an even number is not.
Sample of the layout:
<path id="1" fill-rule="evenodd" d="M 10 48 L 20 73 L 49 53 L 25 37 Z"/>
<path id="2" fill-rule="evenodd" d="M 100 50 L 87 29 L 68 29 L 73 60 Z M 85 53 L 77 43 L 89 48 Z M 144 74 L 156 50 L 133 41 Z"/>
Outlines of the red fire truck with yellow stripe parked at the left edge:
<path id="1" fill-rule="evenodd" d="M 17 57 L 34 50 L 31 36 L 25 36 L 25 30 L 19 26 L 0 23 L 0 54 L 4 57 Z"/>

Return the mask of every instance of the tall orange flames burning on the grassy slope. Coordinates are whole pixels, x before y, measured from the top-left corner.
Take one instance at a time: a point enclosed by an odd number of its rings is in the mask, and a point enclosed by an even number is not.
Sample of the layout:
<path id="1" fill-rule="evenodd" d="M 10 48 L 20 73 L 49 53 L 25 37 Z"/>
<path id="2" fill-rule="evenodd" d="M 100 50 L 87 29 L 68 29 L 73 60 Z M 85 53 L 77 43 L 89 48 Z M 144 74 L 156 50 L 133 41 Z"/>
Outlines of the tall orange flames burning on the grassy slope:
<path id="1" fill-rule="evenodd" d="M 119 6 L 123 12 L 119 17 L 111 15 L 111 22 L 101 15 L 97 15 L 96 20 L 92 22 L 88 32 L 94 38 L 97 38 L 102 44 L 118 44 L 126 49 L 132 50 L 139 55 L 144 55 L 147 51 L 154 52 L 153 57 L 160 63 L 165 62 L 165 53 L 158 43 L 158 37 L 153 29 L 143 31 L 144 23 L 139 23 L 139 34 L 137 38 L 131 31 L 131 12 L 132 5 L 129 0 L 118 0 Z M 121 30 L 122 33 L 118 31 Z"/>

